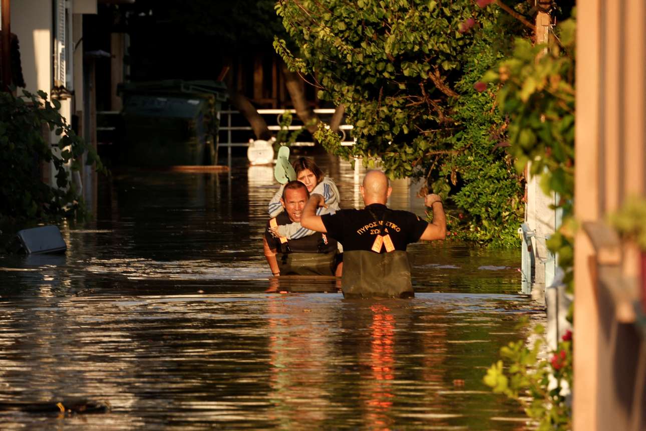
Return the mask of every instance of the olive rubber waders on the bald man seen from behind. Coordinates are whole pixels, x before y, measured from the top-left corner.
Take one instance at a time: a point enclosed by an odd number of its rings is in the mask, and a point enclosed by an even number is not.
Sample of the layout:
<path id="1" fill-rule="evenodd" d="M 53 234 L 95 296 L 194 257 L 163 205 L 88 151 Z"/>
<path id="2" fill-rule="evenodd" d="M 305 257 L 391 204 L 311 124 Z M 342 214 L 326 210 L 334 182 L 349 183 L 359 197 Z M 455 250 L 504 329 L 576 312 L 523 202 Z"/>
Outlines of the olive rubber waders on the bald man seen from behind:
<path id="1" fill-rule="evenodd" d="M 344 252 L 341 288 L 346 298 L 415 296 L 408 253 L 402 250 Z"/>

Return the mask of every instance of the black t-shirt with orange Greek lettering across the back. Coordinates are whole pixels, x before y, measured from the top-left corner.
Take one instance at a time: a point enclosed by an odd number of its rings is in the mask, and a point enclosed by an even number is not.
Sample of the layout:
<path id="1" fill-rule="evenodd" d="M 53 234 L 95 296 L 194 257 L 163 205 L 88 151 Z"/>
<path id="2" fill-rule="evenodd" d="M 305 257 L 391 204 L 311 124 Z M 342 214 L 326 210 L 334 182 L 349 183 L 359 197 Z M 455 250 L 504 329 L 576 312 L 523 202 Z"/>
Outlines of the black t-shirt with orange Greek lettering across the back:
<path id="1" fill-rule="evenodd" d="M 376 235 L 386 233 L 395 250 L 405 251 L 408 244 L 419 241 L 428 226 L 428 222 L 413 213 L 388 209 L 382 204 L 371 204 L 364 209 L 342 209 L 335 214 L 322 215 L 321 220 L 328 237 L 339 241 L 344 251 L 370 251 Z"/>

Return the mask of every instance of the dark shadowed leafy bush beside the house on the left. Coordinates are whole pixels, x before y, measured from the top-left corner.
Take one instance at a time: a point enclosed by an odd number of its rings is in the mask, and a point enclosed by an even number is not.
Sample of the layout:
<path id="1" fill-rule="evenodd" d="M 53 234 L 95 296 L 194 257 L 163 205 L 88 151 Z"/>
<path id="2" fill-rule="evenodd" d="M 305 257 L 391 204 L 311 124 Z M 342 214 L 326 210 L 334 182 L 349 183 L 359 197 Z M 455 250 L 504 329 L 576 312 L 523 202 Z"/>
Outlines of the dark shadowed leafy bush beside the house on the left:
<path id="1" fill-rule="evenodd" d="M 0 93 L 0 219 L 82 218 L 87 215 L 85 205 L 70 180 L 70 172 L 81 169 L 84 153 L 87 164 L 96 163 L 100 170 L 103 166 L 94 149 L 72 131 L 58 112 L 59 101 L 50 103 L 42 91 L 38 96 L 26 91 L 21 97 Z M 52 151 L 52 145 L 43 138 L 43 125 L 60 137 L 58 151 Z M 53 163 L 56 187 L 41 180 L 41 162 Z"/>

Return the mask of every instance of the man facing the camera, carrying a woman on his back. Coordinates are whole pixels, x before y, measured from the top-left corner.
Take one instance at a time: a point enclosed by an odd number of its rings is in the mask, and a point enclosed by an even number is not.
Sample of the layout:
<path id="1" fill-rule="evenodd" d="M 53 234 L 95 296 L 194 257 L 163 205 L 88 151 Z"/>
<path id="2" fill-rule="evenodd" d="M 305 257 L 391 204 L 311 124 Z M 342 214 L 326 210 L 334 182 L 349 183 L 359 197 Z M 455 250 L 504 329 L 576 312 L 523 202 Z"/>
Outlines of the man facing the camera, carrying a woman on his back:
<path id="1" fill-rule="evenodd" d="M 284 211 L 267 222 L 264 236 L 265 257 L 273 275 L 334 275 L 337 266 L 337 242 L 315 232 L 303 238 L 276 238 L 271 227 L 289 226 L 300 222 L 309 198 L 307 187 L 300 181 L 290 181 L 283 187 L 280 204 Z"/>

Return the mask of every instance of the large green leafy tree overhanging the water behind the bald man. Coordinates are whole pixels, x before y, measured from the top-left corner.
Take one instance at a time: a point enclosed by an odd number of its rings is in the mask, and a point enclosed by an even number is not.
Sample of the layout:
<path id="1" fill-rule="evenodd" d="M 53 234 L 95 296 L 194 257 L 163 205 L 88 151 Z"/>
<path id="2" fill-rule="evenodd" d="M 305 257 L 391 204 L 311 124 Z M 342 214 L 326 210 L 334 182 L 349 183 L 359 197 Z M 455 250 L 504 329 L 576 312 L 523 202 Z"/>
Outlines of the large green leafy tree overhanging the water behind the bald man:
<path id="1" fill-rule="evenodd" d="M 495 147 L 504 121 L 494 100 L 473 87 L 505 48 L 495 23 L 507 17 L 471 0 L 280 0 L 276 11 L 291 37 L 276 37 L 276 51 L 354 127 L 351 147 L 326 127 L 319 142 L 391 178 L 428 178 L 453 198 L 463 237 L 517 243 L 522 181 Z"/>

